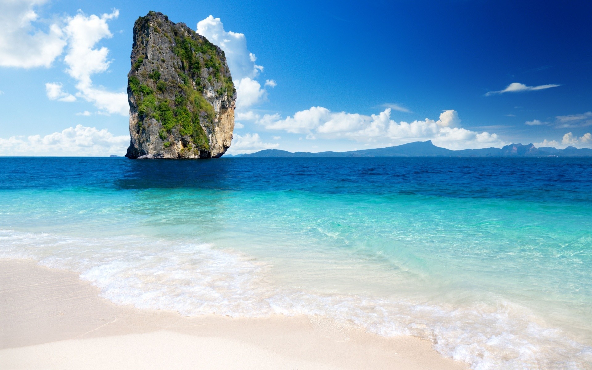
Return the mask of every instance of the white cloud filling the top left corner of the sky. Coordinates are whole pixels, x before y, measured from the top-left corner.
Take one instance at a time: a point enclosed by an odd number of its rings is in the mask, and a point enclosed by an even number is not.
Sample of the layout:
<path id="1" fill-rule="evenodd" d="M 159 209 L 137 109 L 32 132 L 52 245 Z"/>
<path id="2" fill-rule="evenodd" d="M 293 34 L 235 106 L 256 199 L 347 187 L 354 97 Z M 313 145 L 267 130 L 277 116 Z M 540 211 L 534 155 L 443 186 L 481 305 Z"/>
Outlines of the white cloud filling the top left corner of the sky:
<path id="1" fill-rule="evenodd" d="M 0 66 L 49 67 L 66 45 L 59 25 L 53 23 L 46 32 L 38 30 L 36 7 L 47 0 L 0 1 Z"/>

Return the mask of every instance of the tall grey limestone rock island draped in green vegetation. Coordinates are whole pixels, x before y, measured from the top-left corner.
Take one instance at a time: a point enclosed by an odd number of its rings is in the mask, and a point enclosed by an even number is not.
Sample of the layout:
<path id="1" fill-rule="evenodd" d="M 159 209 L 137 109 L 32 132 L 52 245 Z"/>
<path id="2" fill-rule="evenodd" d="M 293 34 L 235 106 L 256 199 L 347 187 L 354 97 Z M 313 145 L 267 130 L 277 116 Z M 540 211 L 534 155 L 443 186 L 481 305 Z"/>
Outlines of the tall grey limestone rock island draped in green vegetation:
<path id="1" fill-rule="evenodd" d="M 149 12 L 134 24 L 129 158 L 211 158 L 226 152 L 236 89 L 219 47 Z"/>

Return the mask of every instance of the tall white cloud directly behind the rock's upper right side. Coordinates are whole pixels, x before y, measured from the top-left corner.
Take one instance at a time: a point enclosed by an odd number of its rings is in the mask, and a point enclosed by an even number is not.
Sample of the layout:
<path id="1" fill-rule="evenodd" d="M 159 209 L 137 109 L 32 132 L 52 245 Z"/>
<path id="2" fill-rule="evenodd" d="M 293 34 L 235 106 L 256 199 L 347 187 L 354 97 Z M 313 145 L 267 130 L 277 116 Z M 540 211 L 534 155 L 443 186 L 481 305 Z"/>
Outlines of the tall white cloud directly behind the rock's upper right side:
<path id="1" fill-rule="evenodd" d="M 237 111 L 264 102 L 267 92 L 256 80 L 263 66 L 255 63 L 257 57 L 247 49 L 247 39 L 244 34 L 225 31 L 220 18 L 214 18 L 212 15 L 197 23 L 197 33 L 224 50 L 236 87 Z M 275 84 L 273 80 L 268 81 Z M 267 82 L 265 85 L 272 86 Z"/>

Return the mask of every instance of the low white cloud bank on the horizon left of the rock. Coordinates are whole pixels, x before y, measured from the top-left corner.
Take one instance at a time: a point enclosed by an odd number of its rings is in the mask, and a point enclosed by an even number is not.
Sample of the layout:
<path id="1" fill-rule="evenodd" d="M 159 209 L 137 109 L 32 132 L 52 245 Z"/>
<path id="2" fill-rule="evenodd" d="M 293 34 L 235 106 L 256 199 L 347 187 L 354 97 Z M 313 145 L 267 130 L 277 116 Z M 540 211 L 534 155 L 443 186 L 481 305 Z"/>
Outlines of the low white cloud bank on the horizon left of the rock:
<path id="1" fill-rule="evenodd" d="M 108 156 L 122 154 L 130 143 L 128 135 L 114 136 L 107 128 L 78 125 L 46 136 L 0 138 L 4 156 Z"/>

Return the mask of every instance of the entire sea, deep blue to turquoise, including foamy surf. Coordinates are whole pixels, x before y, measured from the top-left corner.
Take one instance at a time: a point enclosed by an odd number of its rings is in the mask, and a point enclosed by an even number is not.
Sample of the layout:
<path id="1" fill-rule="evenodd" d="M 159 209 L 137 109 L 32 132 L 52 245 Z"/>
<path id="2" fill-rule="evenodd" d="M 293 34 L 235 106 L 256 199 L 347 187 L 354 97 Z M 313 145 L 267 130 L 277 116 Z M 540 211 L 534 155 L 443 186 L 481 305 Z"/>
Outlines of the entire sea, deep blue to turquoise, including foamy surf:
<path id="1" fill-rule="evenodd" d="M 592 368 L 592 160 L 0 158 L 0 256 L 115 303 Z"/>

